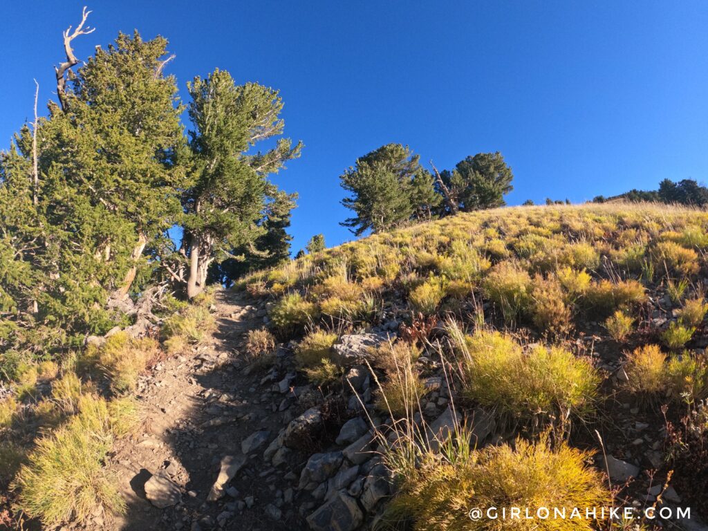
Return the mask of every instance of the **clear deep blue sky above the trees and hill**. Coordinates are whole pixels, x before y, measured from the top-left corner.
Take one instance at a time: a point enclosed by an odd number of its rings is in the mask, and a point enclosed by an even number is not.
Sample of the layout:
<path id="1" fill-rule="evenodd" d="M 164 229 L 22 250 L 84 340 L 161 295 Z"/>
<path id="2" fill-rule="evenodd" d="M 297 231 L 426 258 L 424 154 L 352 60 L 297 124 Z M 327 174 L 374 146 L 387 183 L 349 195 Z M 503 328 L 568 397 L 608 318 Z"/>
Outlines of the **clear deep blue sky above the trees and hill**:
<path id="1" fill-rule="evenodd" d="M 450 168 L 501 151 L 511 205 L 580 202 L 708 175 L 705 1 L 91 1 L 86 58 L 119 30 L 169 39 L 181 91 L 227 69 L 280 89 L 285 133 L 306 144 L 275 181 L 299 192 L 293 249 L 338 222 L 338 176 L 387 142 Z M 0 147 L 55 98 L 61 33 L 82 1 L 4 0 Z M 42 108 L 43 110 L 43 108 Z"/>

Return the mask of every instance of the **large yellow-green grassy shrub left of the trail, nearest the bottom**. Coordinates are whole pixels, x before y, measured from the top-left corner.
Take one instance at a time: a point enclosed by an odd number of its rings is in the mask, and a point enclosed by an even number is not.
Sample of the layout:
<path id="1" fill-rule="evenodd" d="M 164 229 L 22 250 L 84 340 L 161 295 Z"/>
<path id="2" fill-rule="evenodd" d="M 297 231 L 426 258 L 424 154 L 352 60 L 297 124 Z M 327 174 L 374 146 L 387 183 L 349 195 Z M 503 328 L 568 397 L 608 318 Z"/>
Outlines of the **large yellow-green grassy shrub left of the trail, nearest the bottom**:
<path id="1" fill-rule="evenodd" d="M 113 447 L 108 404 L 82 396 L 79 413 L 37 442 L 18 472 L 21 507 L 47 526 L 75 520 L 85 523 L 97 510 L 125 510 L 115 479 L 103 467 Z"/>

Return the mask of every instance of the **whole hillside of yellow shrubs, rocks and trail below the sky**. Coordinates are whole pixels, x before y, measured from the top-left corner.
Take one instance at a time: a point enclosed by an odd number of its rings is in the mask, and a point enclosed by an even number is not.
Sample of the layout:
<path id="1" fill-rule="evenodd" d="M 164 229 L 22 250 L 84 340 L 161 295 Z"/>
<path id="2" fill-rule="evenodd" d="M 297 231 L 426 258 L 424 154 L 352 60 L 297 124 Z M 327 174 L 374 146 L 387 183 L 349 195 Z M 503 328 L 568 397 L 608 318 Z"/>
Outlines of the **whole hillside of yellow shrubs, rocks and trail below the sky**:
<path id="1" fill-rule="evenodd" d="M 310 254 L 195 304 L 164 299 L 152 337 L 113 331 L 60 366 L 18 371 L 0 411 L 13 486 L 2 518 L 609 525 L 467 514 L 546 504 L 691 507 L 700 526 L 706 249 L 699 210 L 501 208 Z M 87 447 L 95 459 L 70 469 Z M 89 480 L 69 486 L 82 466 Z"/>

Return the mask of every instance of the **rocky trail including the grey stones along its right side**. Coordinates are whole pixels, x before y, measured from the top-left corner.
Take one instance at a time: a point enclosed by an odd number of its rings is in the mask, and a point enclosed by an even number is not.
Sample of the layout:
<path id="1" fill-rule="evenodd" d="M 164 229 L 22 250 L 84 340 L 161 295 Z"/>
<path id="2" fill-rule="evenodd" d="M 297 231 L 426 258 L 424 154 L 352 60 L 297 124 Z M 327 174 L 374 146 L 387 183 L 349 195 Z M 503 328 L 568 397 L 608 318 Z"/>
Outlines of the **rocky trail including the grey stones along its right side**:
<path id="1" fill-rule="evenodd" d="M 319 390 L 291 386 L 295 373 L 283 360 L 276 358 L 270 370 L 254 370 L 239 353 L 247 331 L 263 326 L 264 315 L 264 307 L 249 305 L 242 295 L 219 292 L 215 333 L 142 377 L 142 429 L 119 443 L 109 465 L 127 511 L 95 515 L 96 528 L 346 530 L 360 525 L 365 510 L 353 496 L 367 490 L 372 507 L 387 494 L 382 466 L 371 453 L 350 447 L 308 460 L 333 442 L 344 421 L 337 418 L 328 433 L 327 407 L 311 407 L 323 401 Z M 338 442 L 344 447 L 360 440 L 359 447 L 368 448 L 360 418 L 342 433 Z M 366 479 L 372 469 L 378 474 Z M 341 490 L 347 487 L 353 496 Z M 308 523 L 307 516 L 327 501 L 317 511 L 319 520 Z"/>

